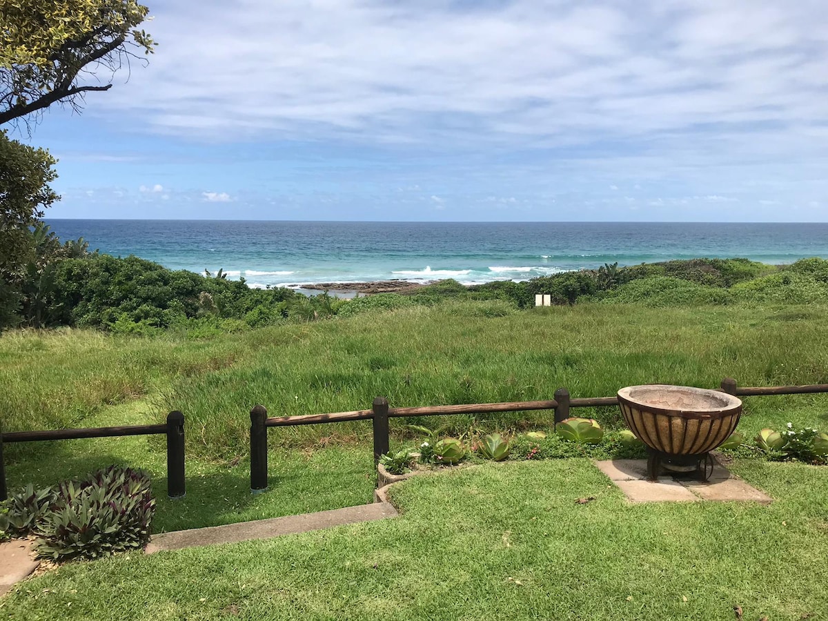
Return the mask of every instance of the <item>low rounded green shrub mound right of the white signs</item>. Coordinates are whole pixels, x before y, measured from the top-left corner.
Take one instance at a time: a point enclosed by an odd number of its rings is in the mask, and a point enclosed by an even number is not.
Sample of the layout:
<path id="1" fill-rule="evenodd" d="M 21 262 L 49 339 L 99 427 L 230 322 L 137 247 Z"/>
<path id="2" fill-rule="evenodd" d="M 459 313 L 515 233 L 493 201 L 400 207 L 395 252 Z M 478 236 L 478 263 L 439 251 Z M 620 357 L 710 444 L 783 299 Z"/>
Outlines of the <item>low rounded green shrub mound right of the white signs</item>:
<path id="1" fill-rule="evenodd" d="M 688 306 L 727 304 L 729 291 L 699 285 L 681 278 L 656 276 L 628 282 L 599 299 L 604 304 L 643 304 L 645 306 Z"/>

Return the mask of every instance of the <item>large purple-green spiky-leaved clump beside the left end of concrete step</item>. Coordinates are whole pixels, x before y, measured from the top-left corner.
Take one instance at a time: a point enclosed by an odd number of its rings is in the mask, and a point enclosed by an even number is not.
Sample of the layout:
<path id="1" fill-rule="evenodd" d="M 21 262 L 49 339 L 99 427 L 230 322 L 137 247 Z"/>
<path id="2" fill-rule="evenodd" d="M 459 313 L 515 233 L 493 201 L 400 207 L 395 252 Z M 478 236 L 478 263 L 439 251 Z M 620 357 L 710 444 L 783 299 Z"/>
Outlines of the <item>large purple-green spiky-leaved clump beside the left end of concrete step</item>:
<path id="1" fill-rule="evenodd" d="M 155 511 L 150 479 L 110 466 L 88 479 L 60 484 L 55 502 L 38 524 L 40 556 L 98 558 L 144 546 Z"/>

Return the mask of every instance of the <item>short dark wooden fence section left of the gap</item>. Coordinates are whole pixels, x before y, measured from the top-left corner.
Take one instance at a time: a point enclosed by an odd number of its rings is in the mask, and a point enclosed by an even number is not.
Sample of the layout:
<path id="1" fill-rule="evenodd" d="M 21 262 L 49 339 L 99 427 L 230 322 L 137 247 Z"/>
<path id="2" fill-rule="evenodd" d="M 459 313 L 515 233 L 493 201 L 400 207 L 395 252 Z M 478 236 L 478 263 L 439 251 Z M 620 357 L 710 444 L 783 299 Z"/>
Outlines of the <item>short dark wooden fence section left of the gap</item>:
<path id="1" fill-rule="evenodd" d="M 185 494 L 184 415 L 170 412 L 162 425 L 129 425 L 119 427 L 87 427 L 49 431 L 7 431 L 0 433 L 0 500 L 8 497 L 3 445 L 7 442 L 41 442 L 44 440 L 81 440 L 122 436 L 154 436 L 166 434 L 166 489 L 170 498 Z"/>

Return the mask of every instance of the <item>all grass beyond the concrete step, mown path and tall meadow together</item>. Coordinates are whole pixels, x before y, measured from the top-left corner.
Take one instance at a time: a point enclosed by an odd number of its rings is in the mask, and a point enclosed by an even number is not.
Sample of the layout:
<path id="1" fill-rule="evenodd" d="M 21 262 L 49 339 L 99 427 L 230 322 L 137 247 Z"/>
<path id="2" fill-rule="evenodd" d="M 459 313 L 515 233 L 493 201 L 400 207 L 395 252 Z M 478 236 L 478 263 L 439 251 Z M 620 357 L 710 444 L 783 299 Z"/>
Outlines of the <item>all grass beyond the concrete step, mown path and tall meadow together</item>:
<path id="1" fill-rule="evenodd" d="M 614 394 L 635 383 L 714 388 L 828 383 L 823 306 L 652 309 L 585 304 L 493 315 L 491 301 L 446 301 L 389 313 L 188 340 L 81 330 L 0 339 L 3 428 L 48 429 L 187 420 L 187 497 L 166 500 L 161 436 L 7 445 L 10 488 L 54 484 L 110 463 L 149 469 L 171 530 L 368 502 L 370 423 L 272 429 L 272 490 L 248 492 L 248 411 L 272 416 L 394 406 Z M 500 308 L 498 306 L 498 308 Z M 496 314 L 494 314 L 496 315 Z M 826 427 L 825 395 L 749 397 L 741 428 Z M 576 410 L 619 425 L 617 408 Z M 546 427 L 551 412 L 423 419 L 508 431 Z M 394 445 L 404 421 L 392 421 Z M 325 450 L 333 445 L 336 448 Z M 293 450 L 299 449 L 299 450 Z M 46 458 L 48 455 L 48 458 Z"/>

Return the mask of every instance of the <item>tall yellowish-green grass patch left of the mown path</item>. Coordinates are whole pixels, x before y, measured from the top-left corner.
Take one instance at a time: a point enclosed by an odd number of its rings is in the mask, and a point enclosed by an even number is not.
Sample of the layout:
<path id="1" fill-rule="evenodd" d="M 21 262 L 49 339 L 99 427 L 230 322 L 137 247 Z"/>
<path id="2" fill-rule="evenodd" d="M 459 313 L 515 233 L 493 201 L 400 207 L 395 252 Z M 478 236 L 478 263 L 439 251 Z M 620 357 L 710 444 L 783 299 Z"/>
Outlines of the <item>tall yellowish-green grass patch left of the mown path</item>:
<path id="1" fill-rule="evenodd" d="M 241 351 L 231 339 L 197 343 L 92 330 L 7 332 L 0 338 L 0 427 L 75 426 L 101 407 L 142 397 L 172 378 L 227 366 Z"/>

